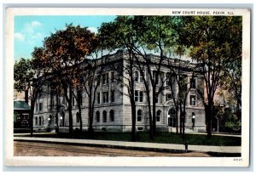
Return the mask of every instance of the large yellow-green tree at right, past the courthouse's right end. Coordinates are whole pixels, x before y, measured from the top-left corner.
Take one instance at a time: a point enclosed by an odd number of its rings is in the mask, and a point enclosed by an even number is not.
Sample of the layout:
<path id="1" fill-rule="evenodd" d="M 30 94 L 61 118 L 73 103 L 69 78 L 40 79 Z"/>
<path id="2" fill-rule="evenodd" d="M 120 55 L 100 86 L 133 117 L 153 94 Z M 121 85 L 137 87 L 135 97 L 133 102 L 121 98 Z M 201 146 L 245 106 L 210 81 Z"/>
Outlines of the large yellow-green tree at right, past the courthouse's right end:
<path id="1" fill-rule="evenodd" d="M 237 16 L 193 16 L 183 18 L 181 40 L 190 48 L 190 56 L 200 65 L 206 85 L 207 96 L 198 90 L 206 110 L 207 136 L 212 137 L 213 99 L 220 81 L 225 78 L 224 70 L 232 61 L 230 54 L 233 42 L 241 42 L 236 30 L 240 31 L 241 17 Z M 236 28 L 236 30 L 234 30 Z M 241 49 L 241 48 L 239 48 Z"/>

